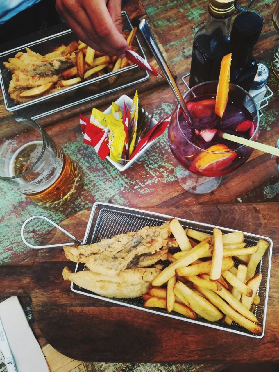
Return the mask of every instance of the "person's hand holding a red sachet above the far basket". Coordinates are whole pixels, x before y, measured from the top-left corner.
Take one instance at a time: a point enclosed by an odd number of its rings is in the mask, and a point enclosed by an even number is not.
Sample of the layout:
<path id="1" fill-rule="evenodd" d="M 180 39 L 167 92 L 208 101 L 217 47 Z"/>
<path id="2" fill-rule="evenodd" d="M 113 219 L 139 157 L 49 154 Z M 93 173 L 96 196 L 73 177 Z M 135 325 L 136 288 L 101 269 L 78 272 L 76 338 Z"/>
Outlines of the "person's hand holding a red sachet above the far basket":
<path id="1" fill-rule="evenodd" d="M 128 44 L 122 36 L 121 0 L 57 0 L 56 10 L 89 47 L 125 57 Z"/>

